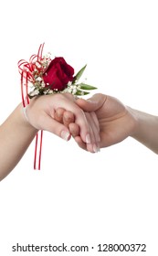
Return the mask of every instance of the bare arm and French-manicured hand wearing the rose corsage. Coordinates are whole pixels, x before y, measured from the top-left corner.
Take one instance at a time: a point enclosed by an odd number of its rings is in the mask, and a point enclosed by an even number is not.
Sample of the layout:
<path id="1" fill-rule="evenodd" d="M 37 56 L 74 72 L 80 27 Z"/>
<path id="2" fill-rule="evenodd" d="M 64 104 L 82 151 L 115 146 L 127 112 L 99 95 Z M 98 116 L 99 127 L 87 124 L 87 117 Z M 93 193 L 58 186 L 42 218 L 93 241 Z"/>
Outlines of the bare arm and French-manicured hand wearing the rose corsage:
<path id="1" fill-rule="evenodd" d="M 0 180 L 14 169 L 38 130 L 55 133 L 66 141 L 70 139 L 68 124 L 64 125 L 55 120 L 55 116 L 58 116 L 56 110 L 59 107 L 73 112 L 71 120 L 74 122 L 73 118 L 75 118 L 80 138 L 87 145 L 88 150 L 90 152 L 98 150 L 99 128 L 96 128 L 96 134 L 91 130 L 94 120 L 90 118 L 90 114 L 86 116 L 74 101 L 74 97 L 66 93 L 40 96 L 30 101 L 26 109 L 26 117 L 22 111 L 22 104 L 16 107 L 0 126 Z"/>

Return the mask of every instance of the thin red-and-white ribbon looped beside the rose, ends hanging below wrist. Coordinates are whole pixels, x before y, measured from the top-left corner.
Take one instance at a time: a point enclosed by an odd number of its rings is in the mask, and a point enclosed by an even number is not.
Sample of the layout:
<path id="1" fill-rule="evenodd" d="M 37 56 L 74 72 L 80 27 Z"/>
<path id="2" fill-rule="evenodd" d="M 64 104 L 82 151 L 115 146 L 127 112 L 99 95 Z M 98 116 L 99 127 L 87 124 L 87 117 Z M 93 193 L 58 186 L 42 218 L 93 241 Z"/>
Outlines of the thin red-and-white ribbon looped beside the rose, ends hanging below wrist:
<path id="1" fill-rule="evenodd" d="M 24 108 L 29 104 L 28 98 L 28 81 L 33 82 L 34 77 L 32 72 L 35 69 L 35 62 L 40 62 L 42 59 L 44 44 L 41 44 L 38 48 L 37 55 L 32 55 L 27 62 L 25 59 L 18 61 L 18 69 L 21 74 L 21 96 Z M 36 136 L 35 145 L 35 158 L 34 158 L 34 169 L 40 170 L 41 153 L 42 153 L 42 138 L 43 131 L 39 131 Z"/>

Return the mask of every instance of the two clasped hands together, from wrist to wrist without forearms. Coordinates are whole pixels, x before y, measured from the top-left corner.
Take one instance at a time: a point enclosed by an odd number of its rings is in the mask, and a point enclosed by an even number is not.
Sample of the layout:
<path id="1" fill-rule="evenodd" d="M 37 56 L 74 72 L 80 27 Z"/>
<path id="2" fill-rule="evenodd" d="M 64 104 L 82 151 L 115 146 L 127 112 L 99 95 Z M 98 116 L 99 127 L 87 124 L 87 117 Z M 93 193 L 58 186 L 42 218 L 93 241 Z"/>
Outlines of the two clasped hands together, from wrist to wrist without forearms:
<path id="1" fill-rule="evenodd" d="M 66 141 L 72 135 L 91 153 L 121 142 L 132 134 L 135 123 L 121 101 L 100 93 L 87 101 L 70 93 L 38 96 L 30 101 L 26 117 L 37 130 L 55 133 Z"/>

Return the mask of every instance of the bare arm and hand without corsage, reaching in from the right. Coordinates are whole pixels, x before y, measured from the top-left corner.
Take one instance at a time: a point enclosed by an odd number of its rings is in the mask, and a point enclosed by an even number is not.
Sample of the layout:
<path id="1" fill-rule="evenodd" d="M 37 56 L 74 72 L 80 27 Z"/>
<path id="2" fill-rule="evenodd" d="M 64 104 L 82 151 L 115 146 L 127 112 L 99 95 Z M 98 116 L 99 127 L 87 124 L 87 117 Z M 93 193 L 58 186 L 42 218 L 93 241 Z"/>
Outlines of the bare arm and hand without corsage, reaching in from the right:
<path id="1" fill-rule="evenodd" d="M 157 116 L 124 106 L 116 98 L 100 93 L 88 101 L 79 99 L 76 102 L 84 112 L 95 112 L 100 125 L 100 147 L 118 144 L 131 136 L 158 154 Z M 64 123 L 67 116 L 63 112 Z M 69 122 L 67 125 L 79 146 L 86 150 L 87 146 L 79 136 L 77 124 Z"/>

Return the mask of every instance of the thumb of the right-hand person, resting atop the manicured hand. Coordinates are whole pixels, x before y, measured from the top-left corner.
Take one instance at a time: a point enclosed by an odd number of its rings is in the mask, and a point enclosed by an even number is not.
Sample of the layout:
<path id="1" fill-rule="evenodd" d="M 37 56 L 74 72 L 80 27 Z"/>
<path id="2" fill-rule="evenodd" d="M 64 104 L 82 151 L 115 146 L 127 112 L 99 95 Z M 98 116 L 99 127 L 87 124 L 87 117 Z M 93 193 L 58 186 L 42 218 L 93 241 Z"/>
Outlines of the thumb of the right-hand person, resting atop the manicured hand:
<path id="1" fill-rule="evenodd" d="M 76 103 L 85 112 L 95 112 L 100 109 L 106 99 L 107 96 L 105 94 L 96 93 L 90 99 L 78 99 Z"/>

